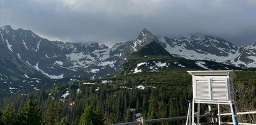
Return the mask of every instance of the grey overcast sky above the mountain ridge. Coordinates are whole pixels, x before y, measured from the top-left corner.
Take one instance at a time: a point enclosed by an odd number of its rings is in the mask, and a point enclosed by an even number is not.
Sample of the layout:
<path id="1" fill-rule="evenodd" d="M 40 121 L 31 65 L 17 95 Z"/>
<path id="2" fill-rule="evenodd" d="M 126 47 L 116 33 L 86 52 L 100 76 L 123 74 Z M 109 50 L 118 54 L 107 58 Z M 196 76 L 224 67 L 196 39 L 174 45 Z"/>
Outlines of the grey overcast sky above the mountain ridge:
<path id="1" fill-rule="evenodd" d="M 255 0 L 0 0 L 0 26 L 32 30 L 49 40 L 135 40 L 147 28 L 157 36 L 214 35 L 235 45 L 256 41 Z"/>

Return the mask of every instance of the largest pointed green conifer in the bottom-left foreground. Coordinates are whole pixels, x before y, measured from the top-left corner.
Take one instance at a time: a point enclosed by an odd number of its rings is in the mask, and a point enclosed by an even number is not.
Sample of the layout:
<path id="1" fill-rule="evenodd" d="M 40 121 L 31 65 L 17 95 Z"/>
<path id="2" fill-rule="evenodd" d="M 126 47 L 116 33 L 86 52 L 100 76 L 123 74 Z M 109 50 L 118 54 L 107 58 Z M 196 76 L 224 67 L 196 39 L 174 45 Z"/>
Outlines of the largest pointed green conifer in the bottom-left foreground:
<path id="1" fill-rule="evenodd" d="M 21 124 L 42 124 L 42 111 L 36 101 L 29 100 L 19 114 Z"/>

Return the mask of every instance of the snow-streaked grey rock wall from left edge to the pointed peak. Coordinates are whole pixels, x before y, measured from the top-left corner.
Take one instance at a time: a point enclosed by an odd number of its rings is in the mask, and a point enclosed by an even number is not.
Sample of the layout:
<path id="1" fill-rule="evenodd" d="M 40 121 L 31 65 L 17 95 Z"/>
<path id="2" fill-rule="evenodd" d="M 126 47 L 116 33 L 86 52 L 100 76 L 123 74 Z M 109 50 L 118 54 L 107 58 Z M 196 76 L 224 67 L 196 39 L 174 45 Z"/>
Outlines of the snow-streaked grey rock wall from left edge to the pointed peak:
<path id="1" fill-rule="evenodd" d="M 8 25 L 0 31 L 1 63 L 6 62 L 4 57 L 9 58 L 7 61 L 21 61 L 31 71 L 50 79 L 108 77 L 120 69 L 133 51 L 156 39 L 144 29 L 135 41 L 116 43 L 109 48 L 98 43 L 49 41 L 30 30 L 14 30 Z"/>

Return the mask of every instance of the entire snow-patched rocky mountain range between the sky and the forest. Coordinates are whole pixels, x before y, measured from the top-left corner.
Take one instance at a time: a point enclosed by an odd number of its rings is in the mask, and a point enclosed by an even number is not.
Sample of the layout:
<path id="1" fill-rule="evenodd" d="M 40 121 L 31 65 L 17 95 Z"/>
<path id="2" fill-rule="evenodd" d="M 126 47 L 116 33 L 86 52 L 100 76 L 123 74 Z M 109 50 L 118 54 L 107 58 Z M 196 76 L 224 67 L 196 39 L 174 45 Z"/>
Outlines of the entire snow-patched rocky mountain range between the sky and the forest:
<path id="1" fill-rule="evenodd" d="M 148 44 L 154 46 L 149 47 L 148 53 L 161 53 L 172 59 L 128 61 Z M 73 80 L 136 74 L 143 72 L 142 66 L 152 72 L 173 66 L 254 71 L 255 61 L 256 42 L 236 46 L 207 35 L 156 37 L 145 28 L 136 40 L 110 48 L 98 43 L 49 41 L 30 30 L 14 30 L 9 25 L 0 28 L 0 92 L 4 94 L 50 88 Z M 122 68 L 123 64 L 126 67 Z"/>

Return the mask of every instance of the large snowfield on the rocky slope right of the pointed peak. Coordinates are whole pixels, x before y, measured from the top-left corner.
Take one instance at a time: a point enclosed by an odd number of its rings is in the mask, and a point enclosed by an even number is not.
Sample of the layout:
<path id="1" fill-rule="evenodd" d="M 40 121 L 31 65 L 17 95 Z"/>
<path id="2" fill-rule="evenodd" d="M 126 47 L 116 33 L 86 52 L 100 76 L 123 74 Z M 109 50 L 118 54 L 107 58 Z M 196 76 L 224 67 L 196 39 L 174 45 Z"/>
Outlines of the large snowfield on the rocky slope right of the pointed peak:
<path id="1" fill-rule="evenodd" d="M 169 41 L 166 41 L 168 39 Z M 209 42 L 207 45 L 204 41 L 205 38 L 202 36 L 197 36 L 194 38 L 164 38 L 159 37 L 158 38 L 160 43 L 163 43 L 165 46 L 163 46 L 166 51 L 168 51 L 170 54 L 178 54 L 179 56 L 186 58 L 186 59 L 198 59 L 198 60 L 211 60 L 216 62 L 224 62 L 229 59 L 235 59 L 237 56 L 239 56 L 239 49 L 237 50 L 231 50 L 229 43 L 226 41 L 222 41 L 223 44 L 229 46 L 230 50 L 227 50 L 227 48 L 220 48 L 219 46 L 216 46 L 217 43 L 220 43 L 218 40 L 214 40 L 209 38 L 207 42 Z M 173 41 L 172 41 L 173 40 Z M 198 43 L 195 43 L 195 42 Z M 194 42 L 192 44 L 192 42 Z M 202 45 L 204 48 L 207 48 L 211 45 L 211 47 L 216 48 L 216 50 L 219 50 L 219 53 L 226 53 L 227 56 L 217 56 L 216 54 L 208 53 L 207 51 L 200 50 L 195 45 Z M 191 48 L 194 47 L 194 48 Z M 232 46 L 234 47 L 234 45 Z M 235 46 L 236 47 L 236 46 Z M 190 48 L 190 49 L 187 49 Z M 214 53 L 214 52 L 213 52 Z"/>

